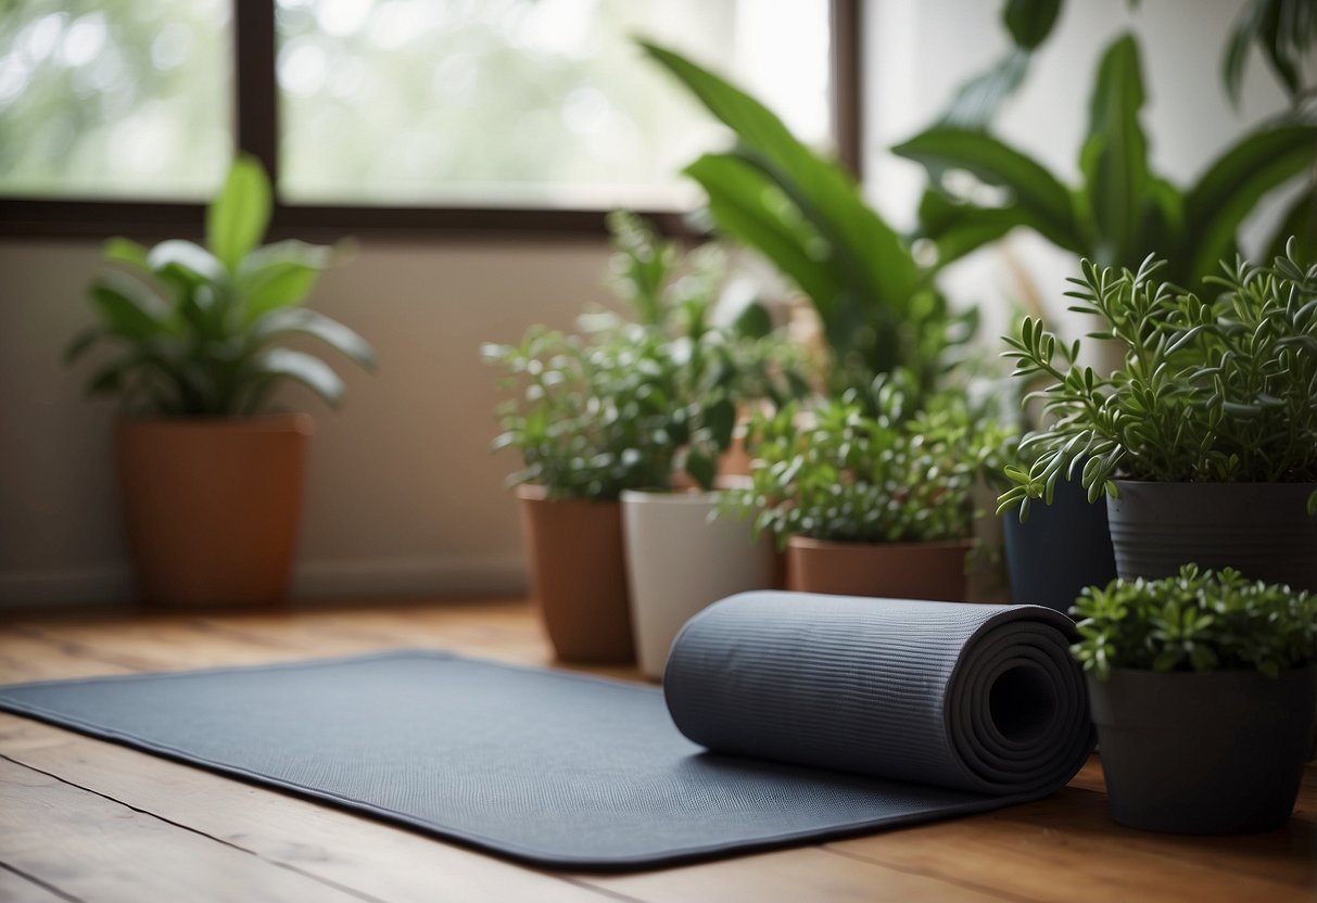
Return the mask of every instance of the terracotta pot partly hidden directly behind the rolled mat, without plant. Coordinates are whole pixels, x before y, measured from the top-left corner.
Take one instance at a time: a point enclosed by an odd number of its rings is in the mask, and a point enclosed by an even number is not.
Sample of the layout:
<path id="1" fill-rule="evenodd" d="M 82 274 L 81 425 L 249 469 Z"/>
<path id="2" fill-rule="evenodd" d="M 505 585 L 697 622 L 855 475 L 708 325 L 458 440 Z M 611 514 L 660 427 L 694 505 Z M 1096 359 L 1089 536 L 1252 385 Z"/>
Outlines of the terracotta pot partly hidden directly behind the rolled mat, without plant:
<path id="1" fill-rule="evenodd" d="M 965 599 L 965 553 L 972 540 L 948 542 L 786 541 L 786 588 L 886 599 Z"/>

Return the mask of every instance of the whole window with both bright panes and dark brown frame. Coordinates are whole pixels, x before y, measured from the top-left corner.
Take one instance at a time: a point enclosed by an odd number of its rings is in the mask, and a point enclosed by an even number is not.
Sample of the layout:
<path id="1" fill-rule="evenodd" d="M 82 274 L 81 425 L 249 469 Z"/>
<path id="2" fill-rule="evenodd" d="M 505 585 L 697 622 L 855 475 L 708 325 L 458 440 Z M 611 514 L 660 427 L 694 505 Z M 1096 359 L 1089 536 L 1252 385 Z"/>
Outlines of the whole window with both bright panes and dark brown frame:
<path id="1" fill-rule="evenodd" d="M 16 8 L 0 21 L 7 234 L 198 224 L 233 143 L 274 170 L 277 232 L 599 232 L 614 207 L 689 209 L 678 168 L 719 126 L 635 34 L 712 61 L 857 158 L 859 0 Z"/>

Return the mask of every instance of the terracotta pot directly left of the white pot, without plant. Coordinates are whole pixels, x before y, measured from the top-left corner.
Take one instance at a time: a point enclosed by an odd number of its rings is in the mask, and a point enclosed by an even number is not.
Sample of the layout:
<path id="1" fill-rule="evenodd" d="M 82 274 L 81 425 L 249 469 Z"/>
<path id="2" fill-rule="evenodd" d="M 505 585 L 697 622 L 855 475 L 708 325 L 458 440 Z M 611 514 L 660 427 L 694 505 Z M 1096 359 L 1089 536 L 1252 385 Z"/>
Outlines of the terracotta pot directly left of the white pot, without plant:
<path id="1" fill-rule="evenodd" d="M 519 486 L 522 528 L 553 652 L 565 662 L 632 662 L 622 507 L 616 502 L 548 500 Z"/>

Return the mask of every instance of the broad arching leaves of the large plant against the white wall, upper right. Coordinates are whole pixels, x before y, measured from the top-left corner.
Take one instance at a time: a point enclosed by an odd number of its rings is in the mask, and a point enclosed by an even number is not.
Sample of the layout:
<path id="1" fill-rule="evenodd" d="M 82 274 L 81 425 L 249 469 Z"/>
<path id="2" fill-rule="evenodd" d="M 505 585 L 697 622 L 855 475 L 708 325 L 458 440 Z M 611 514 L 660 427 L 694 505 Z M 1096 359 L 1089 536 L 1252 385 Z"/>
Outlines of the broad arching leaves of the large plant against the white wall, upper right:
<path id="1" fill-rule="evenodd" d="M 1195 184 L 1180 188 L 1148 165 L 1139 121 L 1144 100 L 1138 43 L 1127 34 L 1106 50 L 1097 72 L 1077 190 L 981 128 L 938 124 L 894 147 L 934 176 L 938 190 L 925 195 L 919 219 L 922 237 L 936 246 L 936 266 L 1025 226 L 1098 266 L 1134 269 L 1148 254 L 1164 254 L 1168 278 L 1197 288 L 1217 261 L 1235 255 L 1239 225 L 1260 199 L 1317 161 L 1317 125 L 1293 115 L 1245 134 Z M 967 200 L 944 178 L 951 171 L 1005 190 L 1008 199 L 1000 205 Z M 1295 201 L 1272 253 L 1287 236 L 1310 232 L 1300 226 L 1310 221 L 1314 203 L 1312 192 Z"/>

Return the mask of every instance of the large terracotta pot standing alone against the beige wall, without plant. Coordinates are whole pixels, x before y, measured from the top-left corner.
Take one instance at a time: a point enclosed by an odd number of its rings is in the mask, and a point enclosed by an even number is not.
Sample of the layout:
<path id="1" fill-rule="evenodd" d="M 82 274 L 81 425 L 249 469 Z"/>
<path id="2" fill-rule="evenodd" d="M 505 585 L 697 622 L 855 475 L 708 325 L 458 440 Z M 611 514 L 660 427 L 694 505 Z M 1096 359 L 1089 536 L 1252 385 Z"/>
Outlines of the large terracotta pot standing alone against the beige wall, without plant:
<path id="1" fill-rule="evenodd" d="M 283 598 L 312 426 L 303 413 L 119 423 L 124 525 L 146 602 Z"/>

